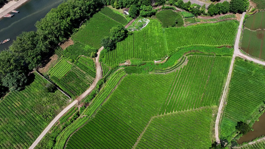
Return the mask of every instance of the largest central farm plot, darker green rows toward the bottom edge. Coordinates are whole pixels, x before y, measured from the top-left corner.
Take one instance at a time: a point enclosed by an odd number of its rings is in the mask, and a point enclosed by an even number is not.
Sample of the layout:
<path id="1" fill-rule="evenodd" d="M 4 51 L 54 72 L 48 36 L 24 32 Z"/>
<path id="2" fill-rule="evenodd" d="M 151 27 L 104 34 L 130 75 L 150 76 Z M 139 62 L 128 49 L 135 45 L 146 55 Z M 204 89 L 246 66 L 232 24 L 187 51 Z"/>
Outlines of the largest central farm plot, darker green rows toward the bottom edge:
<path id="1" fill-rule="evenodd" d="M 131 74 L 124 77 L 95 117 L 72 135 L 66 149 L 132 148 L 150 118 L 158 114 L 173 76 Z"/>

